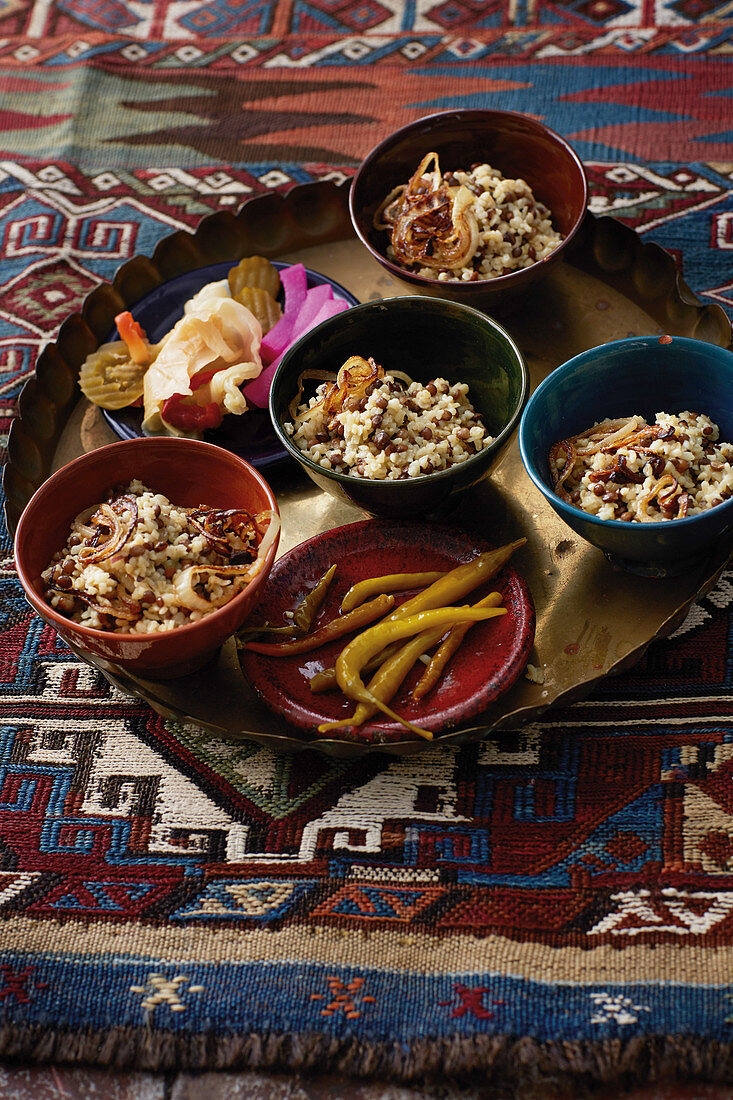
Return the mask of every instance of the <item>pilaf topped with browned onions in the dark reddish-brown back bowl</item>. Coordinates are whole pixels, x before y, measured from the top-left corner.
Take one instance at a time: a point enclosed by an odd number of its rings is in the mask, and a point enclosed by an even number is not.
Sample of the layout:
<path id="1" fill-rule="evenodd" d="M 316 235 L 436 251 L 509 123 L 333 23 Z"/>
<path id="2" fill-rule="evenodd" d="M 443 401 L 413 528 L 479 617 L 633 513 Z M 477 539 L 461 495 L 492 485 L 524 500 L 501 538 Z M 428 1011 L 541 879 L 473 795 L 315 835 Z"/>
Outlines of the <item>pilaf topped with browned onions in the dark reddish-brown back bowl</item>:
<path id="1" fill-rule="evenodd" d="M 394 263 L 451 283 L 529 267 L 562 240 L 524 179 L 507 179 L 490 164 L 441 173 L 437 153 L 386 196 L 374 227 L 389 232 Z"/>

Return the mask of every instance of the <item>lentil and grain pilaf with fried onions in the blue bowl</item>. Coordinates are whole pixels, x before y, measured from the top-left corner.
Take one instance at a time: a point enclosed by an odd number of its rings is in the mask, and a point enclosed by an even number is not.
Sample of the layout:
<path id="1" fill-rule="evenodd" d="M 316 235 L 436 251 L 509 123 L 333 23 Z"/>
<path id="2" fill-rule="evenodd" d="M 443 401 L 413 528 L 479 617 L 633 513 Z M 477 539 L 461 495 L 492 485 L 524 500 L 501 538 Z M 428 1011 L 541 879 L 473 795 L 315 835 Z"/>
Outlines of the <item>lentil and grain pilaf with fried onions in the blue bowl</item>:
<path id="1" fill-rule="evenodd" d="M 555 492 L 626 522 L 683 519 L 733 496 L 733 444 L 704 415 L 657 413 L 599 424 L 550 448 Z"/>

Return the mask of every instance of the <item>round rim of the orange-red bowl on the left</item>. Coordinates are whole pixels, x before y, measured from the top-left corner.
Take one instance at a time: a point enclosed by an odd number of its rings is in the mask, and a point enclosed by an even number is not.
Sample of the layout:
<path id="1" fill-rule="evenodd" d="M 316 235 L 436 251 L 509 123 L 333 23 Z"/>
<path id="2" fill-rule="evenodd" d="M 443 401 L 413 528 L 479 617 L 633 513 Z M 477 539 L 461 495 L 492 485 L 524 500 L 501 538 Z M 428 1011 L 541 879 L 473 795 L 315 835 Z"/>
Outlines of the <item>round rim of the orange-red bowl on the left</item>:
<path id="1" fill-rule="evenodd" d="M 227 610 L 227 608 L 231 608 L 232 605 L 236 603 L 236 601 L 240 600 L 242 596 L 248 595 L 252 585 L 256 585 L 259 587 L 260 584 L 262 583 L 262 579 L 267 575 L 267 573 L 265 572 L 267 565 L 272 566 L 272 562 L 274 561 L 274 556 L 277 551 L 277 541 L 278 541 L 277 539 L 270 547 L 270 550 L 265 556 L 262 569 L 252 579 L 252 581 L 250 582 L 250 584 L 248 584 L 245 588 L 243 588 L 241 592 L 238 592 L 236 596 L 233 596 L 221 607 L 217 607 L 215 610 L 209 612 L 208 615 L 204 615 L 200 619 L 197 619 L 195 623 L 185 623 L 182 626 L 174 627 L 172 630 L 152 630 L 150 632 L 133 632 L 127 630 L 100 630 L 97 627 L 85 626 L 83 623 L 76 623 L 74 619 L 69 619 L 65 615 L 61 615 L 50 604 L 46 604 L 45 601 L 41 598 L 41 596 L 33 587 L 32 579 L 29 575 L 28 570 L 25 569 L 25 565 L 22 560 L 22 554 L 20 553 L 20 537 L 21 534 L 24 534 L 24 528 L 28 525 L 28 522 L 30 522 L 30 512 L 32 505 L 34 505 L 34 503 L 37 505 L 41 498 L 41 494 L 45 495 L 45 493 L 53 491 L 54 487 L 62 480 L 62 475 L 65 477 L 68 476 L 69 470 L 72 468 L 77 468 L 77 469 L 81 468 L 85 463 L 92 461 L 95 457 L 98 457 L 100 452 L 102 451 L 109 452 L 112 450 L 119 450 L 120 448 L 140 449 L 144 448 L 147 443 L 152 441 L 155 441 L 156 443 L 162 442 L 164 447 L 168 447 L 171 444 L 174 446 L 185 444 L 187 448 L 188 444 L 193 443 L 195 444 L 195 448 L 197 450 L 204 449 L 207 451 L 215 451 L 230 455 L 236 462 L 247 468 L 245 472 L 249 473 L 249 475 L 252 477 L 253 481 L 260 484 L 260 487 L 262 490 L 264 490 L 265 496 L 270 501 L 271 505 L 270 510 L 274 512 L 280 519 L 280 508 L 277 506 L 277 499 L 275 497 L 275 494 L 271 488 L 271 486 L 265 481 L 265 479 L 262 476 L 260 471 L 256 470 L 254 466 L 252 466 L 249 462 L 247 462 L 245 459 L 241 459 L 238 454 L 234 454 L 233 451 L 227 451 L 222 447 L 217 447 L 216 443 L 208 443 L 206 442 L 206 440 L 203 439 L 189 439 L 185 436 L 141 436 L 136 437 L 135 439 L 121 439 L 114 443 L 107 443 L 105 447 L 98 447 L 94 451 L 86 451 L 84 454 L 78 455 L 76 459 L 72 459 L 69 462 L 66 462 L 58 470 L 54 471 L 54 473 L 51 474 L 51 476 L 47 477 L 46 481 L 44 481 L 43 484 L 37 487 L 37 490 L 30 498 L 30 501 L 28 502 L 28 504 L 23 508 L 23 512 L 20 515 L 20 518 L 18 520 L 18 526 L 15 528 L 15 535 L 13 537 L 13 561 L 15 563 L 18 578 L 25 593 L 25 597 L 28 602 L 31 604 L 31 606 L 39 613 L 39 615 L 41 615 L 42 618 L 46 618 L 47 616 L 50 619 L 53 620 L 55 628 L 59 632 L 70 629 L 75 635 L 78 634 L 78 636 L 81 638 L 88 637 L 90 639 L 94 638 L 99 640 L 106 640 L 108 642 L 109 639 L 114 639 L 114 640 L 119 639 L 120 642 L 127 642 L 128 645 L 130 642 L 135 642 L 135 641 L 136 642 L 145 641 L 147 646 L 154 645 L 154 642 L 157 639 L 164 639 L 171 637 L 180 638 L 184 634 L 190 634 L 193 630 L 195 630 L 197 627 L 200 627 L 203 624 L 208 624 L 214 622 L 215 618 L 219 617 L 222 612 Z M 269 558 L 270 562 L 267 561 Z"/>

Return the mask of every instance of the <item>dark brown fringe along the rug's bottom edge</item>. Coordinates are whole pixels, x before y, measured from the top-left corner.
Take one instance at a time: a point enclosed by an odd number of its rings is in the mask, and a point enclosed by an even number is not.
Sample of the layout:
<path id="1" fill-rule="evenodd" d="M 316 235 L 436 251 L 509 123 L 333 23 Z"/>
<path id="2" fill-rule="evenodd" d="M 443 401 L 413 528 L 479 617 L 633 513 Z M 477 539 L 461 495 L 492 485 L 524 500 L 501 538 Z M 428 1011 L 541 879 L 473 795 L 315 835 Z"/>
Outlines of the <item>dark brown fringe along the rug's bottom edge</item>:
<path id="1" fill-rule="evenodd" d="M 402 1082 L 450 1078 L 510 1087 L 551 1081 L 556 1088 L 630 1088 L 670 1079 L 733 1084 L 733 1043 L 690 1035 L 600 1043 L 479 1035 L 406 1046 L 325 1035 L 188 1036 L 145 1027 L 64 1033 L 6 1025 L 0 1028 L 0 1058 L 117 1070 L 341 1072 Z"/>

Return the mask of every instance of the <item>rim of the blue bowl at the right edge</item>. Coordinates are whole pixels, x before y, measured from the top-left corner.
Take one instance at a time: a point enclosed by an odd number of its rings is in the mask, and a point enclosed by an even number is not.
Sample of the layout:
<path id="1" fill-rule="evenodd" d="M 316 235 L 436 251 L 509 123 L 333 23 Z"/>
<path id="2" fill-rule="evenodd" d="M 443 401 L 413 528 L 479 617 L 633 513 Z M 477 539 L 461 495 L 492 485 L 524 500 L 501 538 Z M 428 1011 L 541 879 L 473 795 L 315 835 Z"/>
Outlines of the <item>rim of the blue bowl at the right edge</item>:
<path id="1" fill-rule="evenodd" d="M 583 512 L 582 508 L 579 508 L 577 505 L 571 504 L 569 501 L 564 501 L 562 497 L 558 496 L 555 490 L 550 488 L 547 482 L 539 476 L 539 473 L 529 457 L 529 447 L 527 440 L 527 431 L 528 431 L 527 420 L 528 420 L 529 408 L 536 398 L 541 397 L 544 394 L 546 394 L 551 388 L 554 383 L 561 381 L 561 378 L 565 377 L 566 374 L 569 374 L 571 370 L 573 370 L 578 365 L 583 365 L 587 362 L 593 362 L 594 360 L 599 359 L 599 354 L 603 351 L 603 349 L 608 351 L 608 349 L 611 346 L 613 346 L 614 349 L 623 346 L 631 348 L 631 345 L 634 344 L 636 346 L 641 344 L 642 348 L 653 348 L 655 344 L 659 344 L 663 339 L 665 339 L 664 336 L 659 336 L 658 333 L 650 336 L 641 336 L 641 337 L 624 337 L 621 340 L 609 340 L 605 343 L 597 344 L 595 348 L 588 348 L 586 351 L 579 352 L 577 355 L 573 355 L 571 359 L 566 360 L 565 363 L 561 363 L 554 371 L 551 371 L 547 375 L 547 377 L 543 378 L 543 381 L 539 383 L 535 392 L 530 394 L 522 413 L 522 417 L 519 419 L 519 428 L 517 431 L 519 455 L 522 458 L 522 464 L 525 469 L 526 474 L 530 477 L 530 480 L 539 490 L 539 492 L 543 494 L 545 499 L 548 501 L 548 503 L 556 510 L 558 510 L 558 508 L 561 512 L 567 509 L 572 516 L 577 517 L 578 519 L 582 519 L 594 527 L 604 528 L 606 530 L 624 530 L 624 531 L 639 531 L 639 532 L 648 531 L 647 537 L 652 537 L 652 535 L 655 531 L 659 530 L 668 531 L 668 530 L 677 530 L 680 527 L 690 527 L 693 522 L 696 522 L 696 520 L 700 522 L 702 520 L 709 519 L 713 514 L 720 516 L 723 510 L 729 512 L 731 507 L 733 507 L 733 497 L 731 497 L 729 501 L 723 501 L 722 504 L 715 505 L 714 508 L 705 508 L 704 512 L 700 512 L 694 516 L 685 516 L 682 519 L 660 519 L 648 524 L 632 524 L 632 522 L 625 522 L 621 519 L 602 519 L 599 516 L 591 515 L 590 512 Z M 726 348 L 721 348 L 719 344 L 710 344 L 704 340 L 694 340 L 691 337 L 671 337 L 669 339 L 665 339 L 665 343 L 681 344 L 682 350 L 685 350 L 685 348 L 689 348 L 690 350 L 692 348 L 696 349 L 702 348 L 705 349 L 707 351 L 714 352 L 715 355 L 718 355 L 720 352 L 724 352 L 724 358 L 730 359 L 731 373 L 733 374 L 733 351 L 729 351 Z"/>

